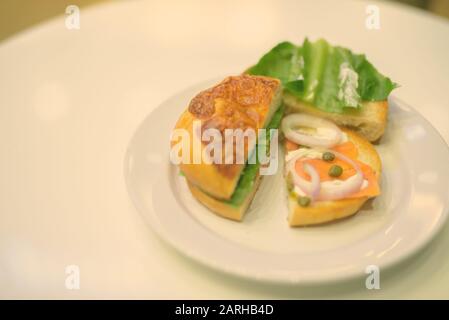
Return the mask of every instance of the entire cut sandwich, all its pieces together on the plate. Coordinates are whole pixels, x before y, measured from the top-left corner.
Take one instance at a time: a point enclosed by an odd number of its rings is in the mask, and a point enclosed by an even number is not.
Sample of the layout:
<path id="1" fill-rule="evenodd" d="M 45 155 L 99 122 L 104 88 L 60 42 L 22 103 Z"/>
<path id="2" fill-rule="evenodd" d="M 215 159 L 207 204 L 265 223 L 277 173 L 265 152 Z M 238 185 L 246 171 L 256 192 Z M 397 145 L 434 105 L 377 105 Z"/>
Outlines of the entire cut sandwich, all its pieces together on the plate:
<path id="1" fill-rule="evenodd" d="M 223 138 L 228 129 L 276 129 L 282 121 L 290 226 L 347 217 L 380 194 L 381 161 L 370 141 L 385 131 L 387 98 L 395 87 L 364 55 L 325 40 L 283 42 L 244 74 L 192 99 L 176 124 L 192 141 L 181 156 L 191 159 L 195 145 L 207 153 L 204 130 Z M 224 146 L 218 157 L 217 149 L 209 156 L 220 163 L 181 163 L 192 195 L 215 213 L 241 220 L 261 179 L 253 155 L 267 142 L 270 134 L 248 139 L 239 163 L 227 162 Z M 172 139 L 172 149 L 176 143 Z M 231 158 L 237 158 L 235 150 Z"/>

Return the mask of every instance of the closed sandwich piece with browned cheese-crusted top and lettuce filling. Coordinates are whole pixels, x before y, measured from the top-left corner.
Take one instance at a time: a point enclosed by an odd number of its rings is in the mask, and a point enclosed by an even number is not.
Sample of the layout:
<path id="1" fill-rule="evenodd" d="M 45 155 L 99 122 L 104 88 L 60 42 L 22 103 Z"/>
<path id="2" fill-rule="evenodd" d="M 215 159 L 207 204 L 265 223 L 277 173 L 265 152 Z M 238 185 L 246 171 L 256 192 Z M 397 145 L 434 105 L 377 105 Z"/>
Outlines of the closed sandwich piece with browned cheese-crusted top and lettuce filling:
<path id="1" fill-rule="evenodd" d="M 200 146 L 201 152 L 208 144 L 207 141 L 200 141 L 205 129 L 217 130 L 223 138 L 224 147 L 226 129 L 241 129 L 243 132 L 251 129 L 257 134 L 258 129 L 267 127 L 273 115 L 279 113 L 281 91 L 280 81 L 274 78 L 250 75 L 228 77 L 196 95 L 179 118 L 175 129 L 185 129 L 188 132 L 191 158 L 195 143 Z M 280 122 L 279 114 L 276 118 Z M 201 124 L 198 132 L 194 132 L 195 120 Z M 178 142 L 172 140 L 172 147 Z M 181 163 L 180 170 L 185 175 L 192 194 L 213 211 L 232 219 L 240 219 L 259 181 L 255 178 L 253 167 L 246 170 L 248 157 L 256 143 L 257 137 L 253 144 L 245 140 L 243 162 L 240 163 L 236 163 L 236 148 L 232 163 L 226 163 L 224 149 L 222 163 Z M 180 153 L 182 155 L 182 150 Z M 253 177 L 252 181 L 243 179 L 248 171 Z M 238 194 L 235 194 L 236 190 Z M 223 208 L 230 208 L 238 214 L 228 214 L 225 212 L 227 209 Z"/>

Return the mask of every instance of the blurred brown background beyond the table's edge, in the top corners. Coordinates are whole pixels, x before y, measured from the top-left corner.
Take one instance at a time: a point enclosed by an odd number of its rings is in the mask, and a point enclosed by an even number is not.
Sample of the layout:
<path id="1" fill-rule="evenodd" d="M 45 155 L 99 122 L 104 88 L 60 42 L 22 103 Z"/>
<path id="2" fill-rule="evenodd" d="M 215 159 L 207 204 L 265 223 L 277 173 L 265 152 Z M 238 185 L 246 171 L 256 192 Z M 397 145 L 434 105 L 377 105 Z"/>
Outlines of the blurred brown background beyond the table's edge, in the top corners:
<path id="1" fill-rule="evenodd" d="M 39 22 L 45 21 L 57 15 L 64 14 L 65 8 L 68 5 L 86 7 L 106 1 L 130 0 L 0 0 L 0 41 Z M 402 3 L 405 5 L 413 6 L 415 8 L 419 8 L 421 10 L 426 10 L 439 16 L 449 18 L 449 0 L 384 1 Z"/>

